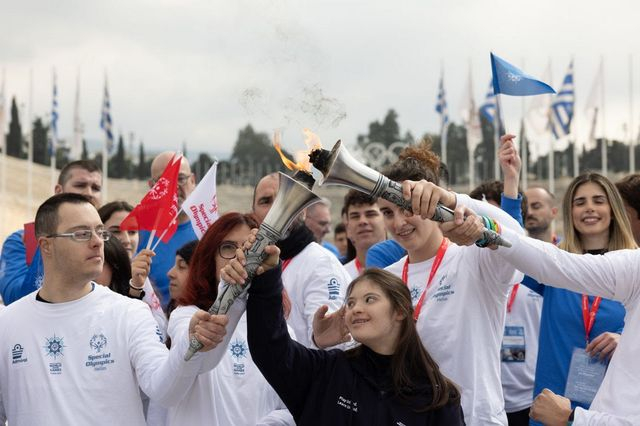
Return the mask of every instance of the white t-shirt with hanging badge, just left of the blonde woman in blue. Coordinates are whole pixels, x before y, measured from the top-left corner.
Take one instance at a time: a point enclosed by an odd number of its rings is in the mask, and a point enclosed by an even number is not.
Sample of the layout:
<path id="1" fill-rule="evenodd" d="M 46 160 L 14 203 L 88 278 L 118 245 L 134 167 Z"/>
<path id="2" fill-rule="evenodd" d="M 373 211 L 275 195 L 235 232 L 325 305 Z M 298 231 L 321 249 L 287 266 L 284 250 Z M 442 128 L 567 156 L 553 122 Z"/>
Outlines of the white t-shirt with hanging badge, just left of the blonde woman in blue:
<path id="1" fill-rule="evenodd" d="M 513 291 L 513 287 L 512 290 Z M 511 296 L 511 292 L 509 293 Z M 536 360 L 538 359 L 538 337 L 540 336 L 540 316 L 542 313 L 542 296 L 520 284 L 513 300 L 511 312 L 507 311 L 505 319 L 505 339 L 511 339 L 517 345 L 524 343 L 524 362 L 502 361 L 502 391 L 504 408 L 507 413 L 515 413 L 531 407 L 533 403 L 533 384 L 536 377 Z M 514 336 L 513 332 L 523 336 Z"/>

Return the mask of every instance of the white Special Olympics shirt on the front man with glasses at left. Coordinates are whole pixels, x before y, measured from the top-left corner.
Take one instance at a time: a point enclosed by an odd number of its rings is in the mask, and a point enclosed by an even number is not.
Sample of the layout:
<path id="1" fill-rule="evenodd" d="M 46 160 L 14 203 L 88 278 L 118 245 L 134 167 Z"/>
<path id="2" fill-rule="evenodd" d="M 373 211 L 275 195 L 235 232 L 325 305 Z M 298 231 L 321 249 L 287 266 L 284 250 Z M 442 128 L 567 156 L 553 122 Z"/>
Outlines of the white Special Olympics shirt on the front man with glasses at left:
<path id="1" fill-rule="evenodd" d="M 179 401 L 206 355 L 169 352 L 148 306 L 93 285 L 66 303 L 36 292 L 0 313 L 0 389 L 11 425 L 145 425 L 140 391 L 158 403 Z"/>

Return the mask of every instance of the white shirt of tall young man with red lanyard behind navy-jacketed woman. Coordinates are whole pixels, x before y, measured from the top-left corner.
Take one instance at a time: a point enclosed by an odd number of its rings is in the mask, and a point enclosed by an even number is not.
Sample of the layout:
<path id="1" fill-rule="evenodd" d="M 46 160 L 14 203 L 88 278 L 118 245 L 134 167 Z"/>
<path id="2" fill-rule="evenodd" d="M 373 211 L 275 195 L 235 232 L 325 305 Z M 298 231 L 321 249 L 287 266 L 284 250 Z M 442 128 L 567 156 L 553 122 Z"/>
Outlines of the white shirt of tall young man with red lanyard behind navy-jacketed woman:
<path id="1" fill-rule="evenodd" d="M 488 203 L 458 195 L 478 214 L 501 226 L 520 225 Z M 416 327 L 442 373 L 456 383 L 467 425 L 507 425 L 500 381 L 500 347 L 507 294 L 522 274 L 476 246 L 449 244 L 425 296 Z M 402 277 L 406 256 L 386 270 Z M 426 284 L 434 258 L 409 264 L 408 287 L 415 304 Z"/>

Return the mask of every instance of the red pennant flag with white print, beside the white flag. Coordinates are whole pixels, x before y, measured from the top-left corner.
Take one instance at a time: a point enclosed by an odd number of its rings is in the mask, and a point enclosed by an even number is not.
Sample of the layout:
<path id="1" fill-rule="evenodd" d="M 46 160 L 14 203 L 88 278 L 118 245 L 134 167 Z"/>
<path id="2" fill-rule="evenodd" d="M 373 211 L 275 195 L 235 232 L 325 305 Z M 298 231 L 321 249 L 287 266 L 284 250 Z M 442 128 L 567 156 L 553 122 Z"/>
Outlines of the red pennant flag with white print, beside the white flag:
<path id="1" fill-rule="evenodd" d="M 120 229 L 144 229 L 156 231 L 162 241 L 168 242 L 178 229 L 178 172 L 182 155 L 175 156 L 162 172 L 160 179 L 147 192 L 127 217 L 120 224 Z M 166 229 L 166 232 L 165 232 Z"/>

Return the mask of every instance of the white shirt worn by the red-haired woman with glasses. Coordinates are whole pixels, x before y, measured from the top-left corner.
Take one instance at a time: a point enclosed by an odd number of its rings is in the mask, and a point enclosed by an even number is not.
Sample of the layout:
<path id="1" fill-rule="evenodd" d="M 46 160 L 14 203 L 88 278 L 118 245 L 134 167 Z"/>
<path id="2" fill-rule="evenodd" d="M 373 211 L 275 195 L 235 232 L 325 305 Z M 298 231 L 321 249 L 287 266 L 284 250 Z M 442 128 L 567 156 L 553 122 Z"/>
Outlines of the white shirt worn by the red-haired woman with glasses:
<path id="1" fill-rule="evenodd" d="M 195 306 L 180 306 L 171 313 L 169 336 L 184 335 Z M 230 312 L 237 317 L 239 311 Z M 167 425 L 294 425 L 293 417 L 253 363 L 247 343 L 246 313 L 241 314 L 220 363 L 200 374 L 182 401 L 169 408 Z M 237 319 L 234 319 L 234 322 Z M 231 321 L 230 321 L 231 323 Z"/>

